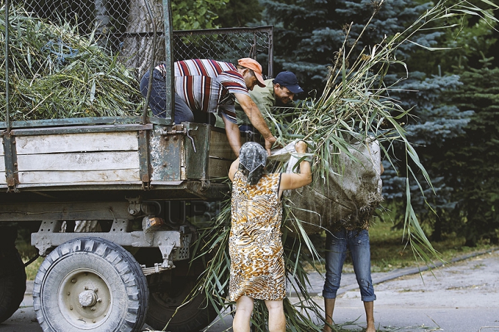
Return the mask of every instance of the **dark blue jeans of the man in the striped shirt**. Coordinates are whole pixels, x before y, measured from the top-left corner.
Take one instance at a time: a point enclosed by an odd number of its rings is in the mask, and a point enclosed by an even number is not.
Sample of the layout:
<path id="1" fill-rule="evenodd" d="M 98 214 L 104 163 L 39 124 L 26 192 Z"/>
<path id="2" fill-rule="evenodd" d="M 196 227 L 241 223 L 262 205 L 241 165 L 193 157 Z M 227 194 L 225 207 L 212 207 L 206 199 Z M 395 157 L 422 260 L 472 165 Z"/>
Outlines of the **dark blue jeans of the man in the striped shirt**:
<path id="1" fill-rule="evenodd" d="M 149 86 L 149 71 L 143 75 L 140 82 L 140 91 L 144 97 L 147 96 Z M 192 111 L 186 102 L 175 93 L 175 116 L 173 122 L 180 124 L 182 122 L 198 122 L 215 124 L 215 116 L 211 113 L 202 111 Z M 166 80 L 161 72 L 155 69 L 152 72 L 152 86 L 149 98 L 149 107 L 152 114 L 157 118 L 166 117 Z"/>

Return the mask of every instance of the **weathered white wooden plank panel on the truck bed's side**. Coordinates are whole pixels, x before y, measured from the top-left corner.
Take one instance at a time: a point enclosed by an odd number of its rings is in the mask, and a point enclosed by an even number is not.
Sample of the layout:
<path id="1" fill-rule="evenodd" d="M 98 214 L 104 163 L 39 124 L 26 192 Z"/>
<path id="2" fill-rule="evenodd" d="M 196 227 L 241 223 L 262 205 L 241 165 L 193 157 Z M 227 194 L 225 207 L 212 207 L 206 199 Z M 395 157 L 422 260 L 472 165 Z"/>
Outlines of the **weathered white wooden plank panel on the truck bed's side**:
<path id="1" fill-rule="evenodd" d="M 137 133 L 71 133 L 16 138 L 19 185 L 135 181 Z"/>

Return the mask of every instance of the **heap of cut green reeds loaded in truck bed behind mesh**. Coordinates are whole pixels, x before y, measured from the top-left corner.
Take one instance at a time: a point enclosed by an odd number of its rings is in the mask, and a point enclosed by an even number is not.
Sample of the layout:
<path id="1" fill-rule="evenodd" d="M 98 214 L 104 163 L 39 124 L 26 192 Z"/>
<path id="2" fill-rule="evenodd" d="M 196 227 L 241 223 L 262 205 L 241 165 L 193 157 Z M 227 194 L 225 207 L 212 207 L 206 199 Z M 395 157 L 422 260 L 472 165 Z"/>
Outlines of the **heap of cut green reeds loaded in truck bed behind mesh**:
<path id="1" fill-rule="evenodd" d="M 0 9 L 5 31 L 6 7 Z M 9 39 L 0 39 L 0 117 L 6 118 L 8 61 L 10 120 L 132 116 L 143 98 L 134 73 L 98 46 L 94 34 L 53 24 L 22 8 L 9 8 Z"/>

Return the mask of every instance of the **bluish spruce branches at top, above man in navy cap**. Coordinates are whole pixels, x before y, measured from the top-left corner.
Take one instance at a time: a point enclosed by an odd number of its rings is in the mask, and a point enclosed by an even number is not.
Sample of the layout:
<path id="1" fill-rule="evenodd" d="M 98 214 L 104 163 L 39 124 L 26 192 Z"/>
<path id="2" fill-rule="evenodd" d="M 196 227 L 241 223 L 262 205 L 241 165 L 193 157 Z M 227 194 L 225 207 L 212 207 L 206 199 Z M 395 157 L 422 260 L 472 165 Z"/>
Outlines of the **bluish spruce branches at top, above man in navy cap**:
<path id="1" fill-rule="evenodd" d="M 414 22 L 424 10 L 432 5 L 422 5 L 412 0 L 394 0 L 383 3 L 373 1 L 347 0 L 261 0 L 265 7 L 264 24 L 274 24 L 275 72 L 293 71 L 301 86 L 308 91 L 322 91 L 328 75 L 328 66 L 335 62 L 336 52 L 341 48 L 346 28 L 351 25 L 348 44 L 350 46 L 360 35 L 373 12 L 377 12 L 362 33 L 357 52 L 365 46 L 380 43 L 385 36 L 393 36 L 405 29 L 404 25 Z M 441 33 L 426 33 L 417 37 L 419 44 L 431 45 Z M 414 48 L 404 44 L 399 52 Z"/>

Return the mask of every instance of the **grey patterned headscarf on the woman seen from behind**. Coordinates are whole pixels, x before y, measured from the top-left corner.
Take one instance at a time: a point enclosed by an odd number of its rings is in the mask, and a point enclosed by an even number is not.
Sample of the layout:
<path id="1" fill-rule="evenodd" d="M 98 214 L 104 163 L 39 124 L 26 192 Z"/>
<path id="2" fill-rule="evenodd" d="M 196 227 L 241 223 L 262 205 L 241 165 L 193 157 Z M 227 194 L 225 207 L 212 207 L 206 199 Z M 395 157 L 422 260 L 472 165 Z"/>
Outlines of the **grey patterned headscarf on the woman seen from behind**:
<path id="1" fill-rule="evenodd" d="M 247 176 L 250 185 L 256 185 L 267 163 L 267 151 L 256 142 L 245 142 L 239 151 L 239 169 Z"/>

